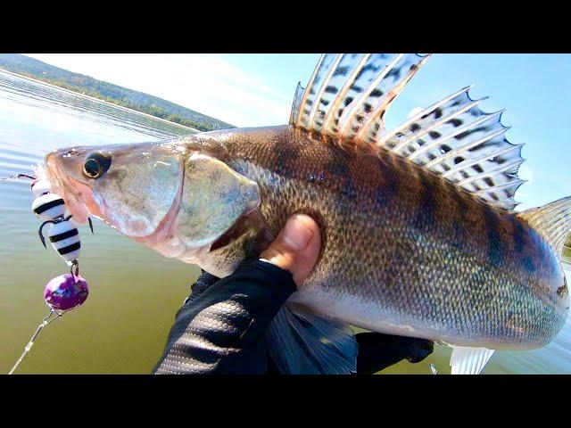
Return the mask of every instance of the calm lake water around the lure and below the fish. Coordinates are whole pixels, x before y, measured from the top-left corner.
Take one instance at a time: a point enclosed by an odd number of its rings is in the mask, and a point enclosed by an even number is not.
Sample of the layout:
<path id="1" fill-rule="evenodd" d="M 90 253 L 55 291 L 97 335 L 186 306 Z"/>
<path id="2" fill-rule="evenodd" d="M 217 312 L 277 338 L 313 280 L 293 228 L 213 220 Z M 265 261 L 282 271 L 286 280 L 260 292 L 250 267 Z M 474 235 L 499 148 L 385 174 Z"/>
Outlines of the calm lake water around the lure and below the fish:
<path id="1" fill-rule="evenodd" d="M 0 177 L 31 173 L 46 152 L 70 145 L 137 143 L 189 133 L 160 120 L 0 72 Z M 0 184 L 0 373 L 7 373 L 47 315 L 46 282 L 67 267 L 39 243 L 29 183 Z M 198 273 L 165 259 L 95 220 L 80 228 L 81 273 L 90 296 L 44 330 L 18 373 L 149 373 L 176 310 Z M 496 352 L 485 373 L 571 373 L 569 320 L 550 345 Z M 437 346 L 419 364 L 384 373 L 450 373 L 451 350 Z"/>

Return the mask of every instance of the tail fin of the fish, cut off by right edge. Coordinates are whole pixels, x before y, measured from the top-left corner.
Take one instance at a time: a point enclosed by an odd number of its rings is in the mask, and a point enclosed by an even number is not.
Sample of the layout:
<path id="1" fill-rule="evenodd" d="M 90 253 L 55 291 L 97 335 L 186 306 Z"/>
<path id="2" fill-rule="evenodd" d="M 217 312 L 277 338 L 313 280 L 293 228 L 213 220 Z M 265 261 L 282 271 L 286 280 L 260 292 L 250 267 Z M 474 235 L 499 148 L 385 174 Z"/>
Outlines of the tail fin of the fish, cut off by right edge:
<path id="1" fill-rule="evenodd" d="M 571 196 L 542 207 L 525 210 L 517 217 L 524 219 L 542 235 L 561 259 L 563 245 L 571 231 Z"/>

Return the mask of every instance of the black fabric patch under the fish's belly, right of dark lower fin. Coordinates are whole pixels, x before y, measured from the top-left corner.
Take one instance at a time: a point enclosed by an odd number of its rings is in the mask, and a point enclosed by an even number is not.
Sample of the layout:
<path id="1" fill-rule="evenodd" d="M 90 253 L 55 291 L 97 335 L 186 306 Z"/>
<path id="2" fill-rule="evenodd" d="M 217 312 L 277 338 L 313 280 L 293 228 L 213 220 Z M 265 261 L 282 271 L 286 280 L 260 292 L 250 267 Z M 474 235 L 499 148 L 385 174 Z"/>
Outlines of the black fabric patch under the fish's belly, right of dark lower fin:
<path id="1" fill-rule="evenodd" d="M 358 333 L 357 373 L 373 374 L 407 359 L 418 363 L 432 354 L 434 343 L 414 337 L 392 336 L 381 333 Z"/>

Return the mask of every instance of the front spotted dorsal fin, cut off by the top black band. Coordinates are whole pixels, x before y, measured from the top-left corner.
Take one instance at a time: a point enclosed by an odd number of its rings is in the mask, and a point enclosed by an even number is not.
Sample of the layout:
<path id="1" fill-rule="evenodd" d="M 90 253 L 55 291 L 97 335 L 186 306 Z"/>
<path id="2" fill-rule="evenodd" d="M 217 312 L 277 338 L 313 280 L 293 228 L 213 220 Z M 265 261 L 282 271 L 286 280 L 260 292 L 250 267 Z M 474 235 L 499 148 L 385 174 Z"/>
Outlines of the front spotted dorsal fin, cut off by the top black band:
<path id="1" fill-rule="evenodd" d="M 382 133 L 385 111 L 426 58 L 404 53 L 322 55 L 290 124 L 346 139 Z"/>

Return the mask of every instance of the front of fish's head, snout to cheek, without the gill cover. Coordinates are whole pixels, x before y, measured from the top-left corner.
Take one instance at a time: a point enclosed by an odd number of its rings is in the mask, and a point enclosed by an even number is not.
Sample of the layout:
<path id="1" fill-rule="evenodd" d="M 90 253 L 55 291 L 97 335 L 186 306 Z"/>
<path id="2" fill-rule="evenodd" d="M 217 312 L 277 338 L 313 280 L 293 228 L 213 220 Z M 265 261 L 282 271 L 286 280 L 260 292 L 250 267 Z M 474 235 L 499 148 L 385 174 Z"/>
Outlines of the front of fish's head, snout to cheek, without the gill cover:
<path id="1" fill-rule="evenodd" d="M 169 144 L 71 147 L 46 156 L 46 177 L 79 224 L 92 215 L 131 237 L 152 235 L 177 201 L 184 162 Z"/>

